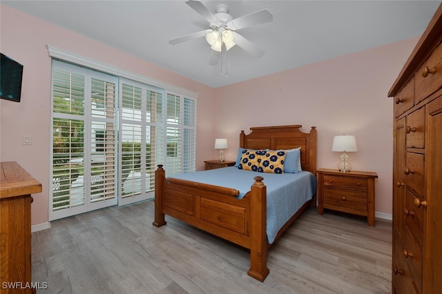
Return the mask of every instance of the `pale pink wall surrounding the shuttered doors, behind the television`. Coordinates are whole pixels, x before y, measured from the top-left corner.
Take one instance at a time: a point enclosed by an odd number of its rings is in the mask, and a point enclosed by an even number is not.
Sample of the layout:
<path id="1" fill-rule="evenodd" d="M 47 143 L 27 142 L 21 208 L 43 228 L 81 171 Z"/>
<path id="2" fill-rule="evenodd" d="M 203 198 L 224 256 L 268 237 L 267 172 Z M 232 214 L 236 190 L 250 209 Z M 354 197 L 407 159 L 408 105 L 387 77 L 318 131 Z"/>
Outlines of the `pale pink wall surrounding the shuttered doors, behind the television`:
<path id="1" fill-rule="evenodd" d="M 214 90 L 131 55 L 0 5 L 0 50 L 23 64 L 21 102 L 0 100 L 0 161 L 17 161 L 43 185 L 33 195 L 32 225 L 48 222 L 50 168 L 50 70 L 47 44 L 97 61 L 200 93 L 198 98 L 198 168 L 213 149 Z M 32 145 L 22 145 L 30 135 Z M 212 139 L 213 138 L 213 139 Z"/>

